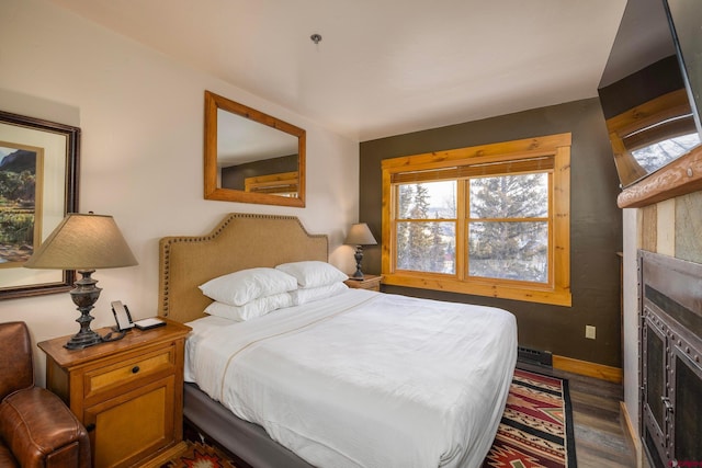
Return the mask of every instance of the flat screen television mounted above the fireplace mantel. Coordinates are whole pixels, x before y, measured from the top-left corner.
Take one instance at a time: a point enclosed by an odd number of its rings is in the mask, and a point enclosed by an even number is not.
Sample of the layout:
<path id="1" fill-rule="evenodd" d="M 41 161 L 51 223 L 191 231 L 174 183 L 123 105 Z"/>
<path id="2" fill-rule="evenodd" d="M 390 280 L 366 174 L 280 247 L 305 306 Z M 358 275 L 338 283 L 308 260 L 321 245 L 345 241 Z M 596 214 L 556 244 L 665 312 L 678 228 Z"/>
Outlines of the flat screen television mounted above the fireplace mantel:
<path id="1" fill-rule="evenodd" d="M 699 0 L 626 5 L 598 89 L 622 187 L 700 145 L 701 15 Z"/>

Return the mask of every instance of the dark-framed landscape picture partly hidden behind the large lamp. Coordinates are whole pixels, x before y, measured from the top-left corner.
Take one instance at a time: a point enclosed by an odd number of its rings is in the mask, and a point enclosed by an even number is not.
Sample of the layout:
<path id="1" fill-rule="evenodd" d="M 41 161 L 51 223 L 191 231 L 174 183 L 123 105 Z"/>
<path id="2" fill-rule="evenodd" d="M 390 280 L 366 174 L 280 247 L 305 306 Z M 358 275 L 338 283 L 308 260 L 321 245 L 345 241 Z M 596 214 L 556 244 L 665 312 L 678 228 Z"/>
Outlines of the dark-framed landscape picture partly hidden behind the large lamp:
<path id="1" fill-rule="evenodd" d="M 80 128 L 0 111 L 0 299 L 70 289 L 73 271 L 23 264 L 78 213 Z"/>

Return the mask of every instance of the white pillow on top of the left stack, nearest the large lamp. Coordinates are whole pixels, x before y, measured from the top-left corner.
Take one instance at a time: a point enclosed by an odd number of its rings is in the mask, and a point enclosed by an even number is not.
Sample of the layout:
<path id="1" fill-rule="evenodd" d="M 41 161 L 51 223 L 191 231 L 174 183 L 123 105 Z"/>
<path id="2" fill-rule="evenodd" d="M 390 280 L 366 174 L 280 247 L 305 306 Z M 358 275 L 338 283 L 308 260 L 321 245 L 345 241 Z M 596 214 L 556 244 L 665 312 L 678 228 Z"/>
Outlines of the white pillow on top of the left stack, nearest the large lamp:
<path id="1" fill-rule="evenodd" d="M 240 270 L 210 279 L 200 290 L 218 303 L 244 306 L 253 299 L 297 288 L 295 277 L 275 269 Z"/>

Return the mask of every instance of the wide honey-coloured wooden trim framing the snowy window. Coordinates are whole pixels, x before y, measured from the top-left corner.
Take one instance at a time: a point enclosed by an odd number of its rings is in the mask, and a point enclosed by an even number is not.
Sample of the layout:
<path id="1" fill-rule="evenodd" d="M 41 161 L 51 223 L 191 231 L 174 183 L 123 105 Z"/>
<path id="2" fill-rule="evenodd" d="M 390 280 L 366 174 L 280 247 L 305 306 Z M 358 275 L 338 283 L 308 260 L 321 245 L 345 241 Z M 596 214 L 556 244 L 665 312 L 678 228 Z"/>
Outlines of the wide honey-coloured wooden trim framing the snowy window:
<path id="1" fill-rule="evenodd" d="M 571 135 L 558 134 L 521 140 L 480 145 L 446 151 L 386 159 L 382 162 L 383 226 L 382 272 L 383 283 L 421 289 L 445 290 L 477 296 L 499 297 L 531 303 L 571 306 L 570 295 L 570 146 Z M 533 283 L 495 282 L 483 278 L 460 279 L 445 275 L 393 270 L 394 240 L 392 214 L 394 206 L 393 179 L 412 171 L 431 171 L 460 165 L 526 161 L 537 157 L 554 157 L 553 169 L 553 286 L 540 287 Z"/>

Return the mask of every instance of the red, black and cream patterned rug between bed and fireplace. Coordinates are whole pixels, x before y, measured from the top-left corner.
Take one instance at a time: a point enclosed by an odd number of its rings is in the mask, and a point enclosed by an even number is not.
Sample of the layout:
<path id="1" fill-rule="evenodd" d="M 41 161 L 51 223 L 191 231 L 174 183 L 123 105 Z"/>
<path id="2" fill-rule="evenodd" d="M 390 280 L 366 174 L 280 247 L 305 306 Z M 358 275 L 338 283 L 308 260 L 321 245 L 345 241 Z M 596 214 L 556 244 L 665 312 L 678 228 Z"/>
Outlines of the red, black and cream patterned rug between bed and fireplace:
<path id="1" fill-rule="evenodd" d="M 577 468 L 568 380 L 514 370 L 484 468 Z"/>

